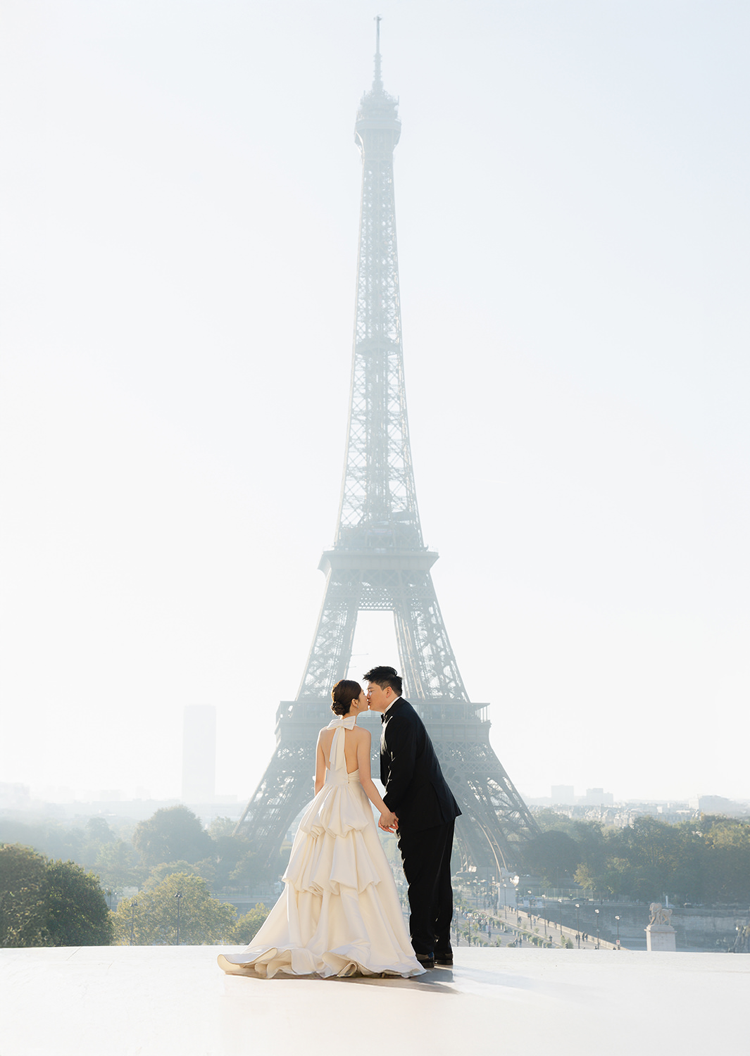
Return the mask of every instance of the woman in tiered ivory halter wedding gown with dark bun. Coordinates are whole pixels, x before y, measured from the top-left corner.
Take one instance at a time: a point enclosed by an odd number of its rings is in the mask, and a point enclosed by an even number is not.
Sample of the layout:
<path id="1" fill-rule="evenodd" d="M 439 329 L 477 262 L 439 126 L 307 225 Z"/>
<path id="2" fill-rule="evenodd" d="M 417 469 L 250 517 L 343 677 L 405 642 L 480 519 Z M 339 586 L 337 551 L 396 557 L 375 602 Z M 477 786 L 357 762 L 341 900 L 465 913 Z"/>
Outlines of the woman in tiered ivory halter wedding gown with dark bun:
<path id="1" fill-rule="evenodd" d="M 397 825 L 370 776 L 368 730 L 357 715 L 368 701 L 358 682 L 342 679 L 331 693 L 335 715 L 318 735 L 315 798 L 299 824 L 284 891 L 241 954 L 221 954 L 230 975 L 277 972 L 303 976 L 420 975 L 401 914 L 380 825 Z"/>

